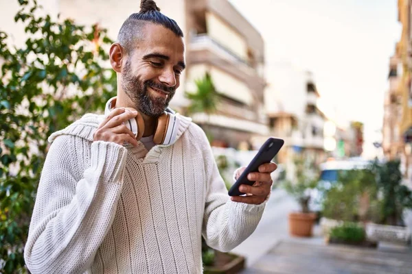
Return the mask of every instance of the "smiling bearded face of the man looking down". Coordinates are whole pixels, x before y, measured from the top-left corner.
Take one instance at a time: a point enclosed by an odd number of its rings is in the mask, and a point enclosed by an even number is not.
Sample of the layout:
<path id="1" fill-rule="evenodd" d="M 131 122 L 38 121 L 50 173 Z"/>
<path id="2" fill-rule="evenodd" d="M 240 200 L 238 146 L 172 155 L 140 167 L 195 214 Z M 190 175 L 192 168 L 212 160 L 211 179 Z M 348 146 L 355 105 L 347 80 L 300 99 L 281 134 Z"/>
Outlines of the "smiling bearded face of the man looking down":
<path id="1" fill-rule="evenodd" d="M 128 55 L 121 85 L 135 105 L 148 116 L 159 116 L 168 107 L 185 69 L 183 38 L 152 23 L 144 27 L 144 39 Z"/>

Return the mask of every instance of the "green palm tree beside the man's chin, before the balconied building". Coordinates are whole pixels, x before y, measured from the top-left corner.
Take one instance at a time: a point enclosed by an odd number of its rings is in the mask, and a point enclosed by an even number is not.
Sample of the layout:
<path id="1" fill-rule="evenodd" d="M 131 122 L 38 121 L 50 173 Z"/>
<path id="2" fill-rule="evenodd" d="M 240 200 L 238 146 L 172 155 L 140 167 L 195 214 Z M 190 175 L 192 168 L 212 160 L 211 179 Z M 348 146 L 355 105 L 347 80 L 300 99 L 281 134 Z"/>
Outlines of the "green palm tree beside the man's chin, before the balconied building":
<path id="1" fill-rule="evenodd" d="M 196 84 L 196 91 L 185 92 L 187 99 L 190 99 L 190 105 L 187 107 L 187 112 L 189 112 L 189 114 L 199 112 L 205 113 L 207 115 L 207 124 L 210 124 L 210 115 L 216 112 L 217 109 L 219 99 L 218 92 L 216 91 L 214 82 L 209 73 L 205 73 L 203 78 L 196 79 L 194 83 Z M 207 132 L 206 134 L 210 140 L 210 134 Z"/>

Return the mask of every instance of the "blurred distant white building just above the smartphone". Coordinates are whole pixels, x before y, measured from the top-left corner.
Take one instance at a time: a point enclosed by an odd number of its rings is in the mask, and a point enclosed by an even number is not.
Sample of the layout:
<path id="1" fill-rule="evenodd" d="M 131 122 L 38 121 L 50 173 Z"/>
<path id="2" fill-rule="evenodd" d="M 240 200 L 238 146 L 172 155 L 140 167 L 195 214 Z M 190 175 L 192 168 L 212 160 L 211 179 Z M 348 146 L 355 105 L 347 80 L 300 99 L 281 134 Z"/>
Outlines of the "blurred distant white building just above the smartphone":
<path id="1" fill-rule="evenodd" d="M 312 73 L 279 63 L 271 66 L 267 77 L 273 83 L 265 91 L 269 127 L 271 134 L 285 140 L 277 161 L 286 164 L 286 175 L 292 179 L 294 155 L 304 156 L 315 169 L 326 159 L 327 119 L 317 105 L 320 95 Z"/>

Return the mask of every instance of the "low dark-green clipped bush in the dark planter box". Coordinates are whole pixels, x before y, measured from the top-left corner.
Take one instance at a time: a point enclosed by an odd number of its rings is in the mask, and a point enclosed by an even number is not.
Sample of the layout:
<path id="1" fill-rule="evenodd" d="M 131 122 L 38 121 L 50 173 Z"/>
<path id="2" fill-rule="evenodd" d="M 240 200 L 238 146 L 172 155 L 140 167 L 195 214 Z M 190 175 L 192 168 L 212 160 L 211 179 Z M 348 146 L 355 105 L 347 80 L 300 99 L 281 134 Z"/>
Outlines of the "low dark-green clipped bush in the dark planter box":
<path id="1" fill-rule="evenodd" d="M 330 230 L 330 238 L 343 242 L 363 242 L 366 238 L 365 229 L 356 223 L 345 222 Z"/>

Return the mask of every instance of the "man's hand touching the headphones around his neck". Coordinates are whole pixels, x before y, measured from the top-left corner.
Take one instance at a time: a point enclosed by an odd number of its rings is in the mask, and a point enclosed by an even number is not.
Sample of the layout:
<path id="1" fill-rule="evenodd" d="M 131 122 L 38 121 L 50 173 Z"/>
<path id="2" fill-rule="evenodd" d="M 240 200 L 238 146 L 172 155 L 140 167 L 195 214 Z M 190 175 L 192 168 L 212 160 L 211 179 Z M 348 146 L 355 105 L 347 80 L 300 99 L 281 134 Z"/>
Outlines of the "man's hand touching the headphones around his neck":
<path id="1" fill-rule="evenodd" d="M 124 122 L 137 116 L 137 111 L 115 108 L 100 123 L 93 136 L 94 141 L 115 142 L 123 145 L 124 142 L 137 147 L 137 140 L 133 132 L 124 125 Z"/>

